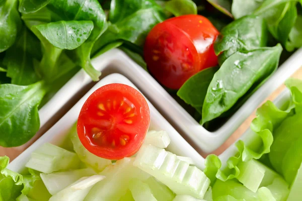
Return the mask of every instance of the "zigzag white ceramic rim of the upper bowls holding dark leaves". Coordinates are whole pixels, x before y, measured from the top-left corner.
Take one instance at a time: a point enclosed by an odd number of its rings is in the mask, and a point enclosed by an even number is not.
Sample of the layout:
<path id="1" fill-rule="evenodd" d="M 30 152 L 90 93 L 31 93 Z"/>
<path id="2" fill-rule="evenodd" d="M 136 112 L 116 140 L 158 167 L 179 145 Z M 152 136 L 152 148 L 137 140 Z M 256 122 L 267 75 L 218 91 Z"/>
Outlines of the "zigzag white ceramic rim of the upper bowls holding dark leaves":
<path id="1" fill-rule="evenodd" d="M 301 57 L 302 49 L 299 49 L 278 68 L 277 72 L 227 122 L 214 132 L 204 129 L 149 73 L 121 50 L 110 50 L 94 58 L 92 64 L 96 69 L 102 71 L 101 78 L 112 73 L 120 73 L 126 76 L 185 139 L 190 141 L 198 150 L 209 153 L 220 147 L 251 115 L 257 106 L 302 65 Z M 89 83 L 91 83 L 91 79 L 84 70 L 73 76 L 51 101 L 40 110 L 41 125 L 49 117 L 56 114 L 68 100 Z"/>

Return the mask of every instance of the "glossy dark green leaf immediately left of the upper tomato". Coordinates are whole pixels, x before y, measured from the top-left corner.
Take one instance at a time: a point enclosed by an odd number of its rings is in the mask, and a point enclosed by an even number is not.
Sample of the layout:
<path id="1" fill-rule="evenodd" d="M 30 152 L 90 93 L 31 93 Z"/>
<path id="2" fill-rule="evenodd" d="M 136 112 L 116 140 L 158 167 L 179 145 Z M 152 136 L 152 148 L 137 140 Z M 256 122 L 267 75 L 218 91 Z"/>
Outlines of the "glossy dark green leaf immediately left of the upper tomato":
<path id="1" fill-rule="evenodd" d="M 116 40 L 125 40 L 142 46 L 149 31 L 158 23 L 165 20 L 156 9 L 139 10 L 123 20 L 112 24 L 99 38 L 93 48 L 93 53 L 104 45 Z"/>

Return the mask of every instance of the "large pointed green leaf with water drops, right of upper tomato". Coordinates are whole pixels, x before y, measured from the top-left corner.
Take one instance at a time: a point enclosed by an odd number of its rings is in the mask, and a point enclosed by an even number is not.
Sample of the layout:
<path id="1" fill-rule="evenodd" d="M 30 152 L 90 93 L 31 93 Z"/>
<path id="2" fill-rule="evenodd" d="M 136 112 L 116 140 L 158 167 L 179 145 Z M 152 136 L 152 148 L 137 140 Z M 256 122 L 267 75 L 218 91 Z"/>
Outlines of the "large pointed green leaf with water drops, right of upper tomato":
<path id="1" fill-rule="evenodd" d="M 202 124 L 231 109 L 253 85 L 261 83 L 278 66 L 281 45 L 251 51 L 240 50 L 230 56 L 215 73 L 205 96 Z"/>

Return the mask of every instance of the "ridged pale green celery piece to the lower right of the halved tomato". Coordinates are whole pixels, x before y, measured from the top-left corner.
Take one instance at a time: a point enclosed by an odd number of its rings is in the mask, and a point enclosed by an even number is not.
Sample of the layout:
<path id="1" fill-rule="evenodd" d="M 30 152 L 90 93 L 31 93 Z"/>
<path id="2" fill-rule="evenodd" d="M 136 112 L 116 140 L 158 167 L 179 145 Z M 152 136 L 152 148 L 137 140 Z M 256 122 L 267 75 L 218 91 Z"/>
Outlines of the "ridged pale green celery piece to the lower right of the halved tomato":
<path id="1" fill-rule="evenodd" d="M 133 165 L 153 175 L 179 195 L 203 198 L 210 184 L 200 169 L 153 145 L 143 145 Z"/>

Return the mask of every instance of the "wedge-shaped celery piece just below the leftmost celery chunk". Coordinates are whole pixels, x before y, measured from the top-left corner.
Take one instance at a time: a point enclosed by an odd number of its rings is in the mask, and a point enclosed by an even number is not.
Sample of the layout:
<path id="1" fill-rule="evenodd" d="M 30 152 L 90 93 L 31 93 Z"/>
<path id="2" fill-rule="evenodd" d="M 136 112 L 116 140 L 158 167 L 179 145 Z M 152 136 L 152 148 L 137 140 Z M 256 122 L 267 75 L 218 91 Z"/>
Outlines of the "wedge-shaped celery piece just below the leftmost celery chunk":
<path id="1" fill-rule="evenodd" d="M 48 192 L 51 195 L 54 195 L 80 178 L 84 176 L 92 176 L 94 174 L 96 174 L 96 172 L 93 169 L 86 168 L 66 172 L 54 172 L 50 174 L 41 173 L 40 176 Z"/>

